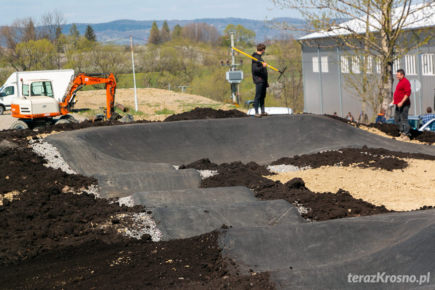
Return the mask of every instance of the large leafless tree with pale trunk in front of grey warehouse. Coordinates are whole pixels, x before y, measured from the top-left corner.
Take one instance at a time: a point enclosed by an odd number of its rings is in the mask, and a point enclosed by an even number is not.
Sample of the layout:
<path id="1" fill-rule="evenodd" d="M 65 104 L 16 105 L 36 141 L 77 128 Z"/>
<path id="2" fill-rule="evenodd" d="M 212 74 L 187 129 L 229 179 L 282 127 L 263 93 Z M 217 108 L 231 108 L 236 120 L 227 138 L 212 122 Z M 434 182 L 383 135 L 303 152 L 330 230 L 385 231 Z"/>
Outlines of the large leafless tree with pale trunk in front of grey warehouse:
<path id="1" fill-rule="evenodd" d="M 379 58 L 381 75 L 378 101 L 386 106 L 392 98 L 393 62 L 407 51 L 432 38 L 429 27 L 435 14 L 432 0 L 413 5 L 411 0 L 271 0 L 277 7 L 299 11 L 305 27 L 272 23 L 285 29 L 317 32 L 318 39 L 333 39 L 359 56 Z M 351 19 L 351 20 L 349 20 Z M 341 24 L 337 24 L 341 23 Z M 307 39 L 308 45 L 310 43 Z M 332 47 L 325 42 L 316 46 Z M 367 57 L 366 57 L 367 60 Z"/>

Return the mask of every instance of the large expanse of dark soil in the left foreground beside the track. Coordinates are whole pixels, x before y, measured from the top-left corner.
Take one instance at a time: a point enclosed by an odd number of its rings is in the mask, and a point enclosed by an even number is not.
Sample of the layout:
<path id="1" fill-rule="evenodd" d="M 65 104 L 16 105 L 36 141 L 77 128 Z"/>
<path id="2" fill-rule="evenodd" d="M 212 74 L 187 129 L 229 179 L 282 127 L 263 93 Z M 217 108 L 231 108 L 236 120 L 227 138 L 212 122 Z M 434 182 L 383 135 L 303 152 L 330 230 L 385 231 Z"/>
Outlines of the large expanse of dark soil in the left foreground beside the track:
<path id="1" fill-rule="evenodd" d="M 170 242 L 118 234 L 110 226 L 121 222 L 117 215 L 146 209 L 74 194 L 73 189 L 96 180 L 47 168 L 41 157 L 19 143 L 24 141 L 4 138 L 0 146 L 0 193 L 19 193 L 0 205 L 2 289 L 274 287 L 268 273 L 250 275 L 228 266 L 217 232 Z M 109 226 L 102 228 L 105 223 Z"/>

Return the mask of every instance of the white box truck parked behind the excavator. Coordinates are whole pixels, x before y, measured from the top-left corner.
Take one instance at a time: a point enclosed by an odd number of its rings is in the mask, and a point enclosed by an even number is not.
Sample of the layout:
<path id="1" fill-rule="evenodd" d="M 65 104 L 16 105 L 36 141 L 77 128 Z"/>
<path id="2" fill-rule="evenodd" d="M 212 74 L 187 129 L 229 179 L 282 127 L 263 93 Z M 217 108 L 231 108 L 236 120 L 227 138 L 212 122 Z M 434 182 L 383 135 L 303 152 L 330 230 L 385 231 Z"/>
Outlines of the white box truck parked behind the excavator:
<path id="1" fill-rule="evenodd" d="M 0 88 L 0 115 L 3 114 L 5 110 L 11 109 L 11 101 L 13 98 L 22 96 L 23 92 L 21 92 L 21 79 L 23 79 L 23 81 L 33 79 L 51 80 L 53 98 L 58 102 L 61 102 L 73 76 L 74 70 L 29 71 L 13 73 Z"/>

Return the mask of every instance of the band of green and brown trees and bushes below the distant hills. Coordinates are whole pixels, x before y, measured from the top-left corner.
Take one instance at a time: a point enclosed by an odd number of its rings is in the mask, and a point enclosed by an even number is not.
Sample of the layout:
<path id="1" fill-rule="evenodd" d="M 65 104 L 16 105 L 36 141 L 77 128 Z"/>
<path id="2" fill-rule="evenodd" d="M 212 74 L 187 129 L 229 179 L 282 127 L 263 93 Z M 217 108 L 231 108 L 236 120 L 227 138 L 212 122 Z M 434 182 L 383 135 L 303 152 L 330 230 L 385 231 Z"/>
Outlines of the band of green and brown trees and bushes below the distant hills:
<path id="1" fill-rule="evenodd" d="M 66 24 L 63 14 L 54 10 L 39 21 L 17 19 L 10 26 L 0 27 L 0 83 L 14 71 L 74 69 L 75 72 L 113 73 L 118 87 L 133 87 L 133 68 L 130 45 L 114 42 L 100 43 L 88 25 L 83 35 L 72 24 L 68 34 L 62 33 Z M 255 51 L 255 32 L 242 25 L 228 25 L 221 35 L 216 27 L 205 23 L 191 23 L 169 29 L 165 21 L 161 28 L 153 22 L 150 35 L 132 37 L 136 85 L 179 90 L 189 85 L 187 92 L 218 101 L 231 97 L 230 84 L 225 80 L 227 66 L 220 61 L 231 59 L 229 34 L 234 33 L 236 46 Z M 279 80 L 270 72 L 268 105 L 303 109 L 302 68 L 300 45 L 290 35 L 265 40 L 267 62 L 274 67 L 291 67 Z M 240 100 L 253 99 L 251 60 L 242 55 L 244 80 L 240 84 Z M 225 60 L 226 61 L 226 60 Z"/>

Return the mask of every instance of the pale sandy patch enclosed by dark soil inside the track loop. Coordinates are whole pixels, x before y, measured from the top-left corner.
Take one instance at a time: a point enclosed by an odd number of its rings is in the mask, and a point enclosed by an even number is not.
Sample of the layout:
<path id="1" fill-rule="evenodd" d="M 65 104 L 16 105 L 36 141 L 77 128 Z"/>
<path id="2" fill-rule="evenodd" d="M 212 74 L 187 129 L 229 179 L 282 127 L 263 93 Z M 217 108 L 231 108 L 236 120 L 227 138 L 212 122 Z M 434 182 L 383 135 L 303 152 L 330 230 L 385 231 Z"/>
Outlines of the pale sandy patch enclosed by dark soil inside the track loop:
<path id="1" fill-rule="evenodd" d="M 413 210 L 435 205 L 435 161 L 405 159 L 403 170 L 350 166 L 322 166 L 315 169 L 278 173 L 269 179 L 281 182 L 299 177 L 314 192 L 337 192 L 340 188 L 354 198 L 391 210 Z"/>

